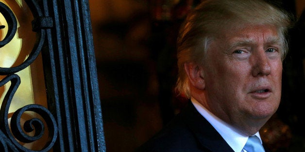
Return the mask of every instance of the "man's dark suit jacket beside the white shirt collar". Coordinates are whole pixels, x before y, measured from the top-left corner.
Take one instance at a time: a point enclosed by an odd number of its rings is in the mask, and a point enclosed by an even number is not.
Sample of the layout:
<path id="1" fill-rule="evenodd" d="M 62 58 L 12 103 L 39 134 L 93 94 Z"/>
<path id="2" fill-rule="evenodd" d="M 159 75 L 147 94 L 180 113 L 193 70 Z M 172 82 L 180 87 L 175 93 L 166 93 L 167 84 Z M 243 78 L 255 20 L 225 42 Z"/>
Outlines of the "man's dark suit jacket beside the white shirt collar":
<path id="1" fill-rule="evenodd" d="M 234 151 L 189 102 L 180 114 L 136 152 Z"/>

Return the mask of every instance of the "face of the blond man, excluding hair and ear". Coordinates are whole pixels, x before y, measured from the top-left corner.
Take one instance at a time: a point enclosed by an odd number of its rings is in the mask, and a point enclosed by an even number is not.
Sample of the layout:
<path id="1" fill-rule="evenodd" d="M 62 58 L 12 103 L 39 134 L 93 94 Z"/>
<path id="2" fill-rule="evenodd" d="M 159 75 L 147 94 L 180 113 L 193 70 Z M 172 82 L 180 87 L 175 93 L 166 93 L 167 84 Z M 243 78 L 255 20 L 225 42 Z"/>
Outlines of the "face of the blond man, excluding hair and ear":
<path id="1" fill-rule="evenodd" d="M 230 124 L 267 121 L 281 98 L 281 44 L 273 26 L 227 30 L 203 66 L 208 109 Z"/>

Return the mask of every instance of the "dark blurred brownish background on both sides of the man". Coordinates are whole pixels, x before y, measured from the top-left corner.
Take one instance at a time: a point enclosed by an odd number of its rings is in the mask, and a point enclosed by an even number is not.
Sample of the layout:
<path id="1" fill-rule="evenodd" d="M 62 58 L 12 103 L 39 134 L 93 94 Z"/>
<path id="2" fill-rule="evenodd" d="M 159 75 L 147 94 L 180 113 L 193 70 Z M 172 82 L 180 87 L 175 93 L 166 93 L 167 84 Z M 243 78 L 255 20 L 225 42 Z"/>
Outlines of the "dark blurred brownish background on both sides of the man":
<path id="1" fill-rule="evenodd" d="M 203 0 L 89 0 L 107 152 L 132 152 L 177 114 L 176 34 Z M 282 101 L 261 129 L 273 152 L 305 152 L 305 0 L 269 0 L 296 20 Z"/>

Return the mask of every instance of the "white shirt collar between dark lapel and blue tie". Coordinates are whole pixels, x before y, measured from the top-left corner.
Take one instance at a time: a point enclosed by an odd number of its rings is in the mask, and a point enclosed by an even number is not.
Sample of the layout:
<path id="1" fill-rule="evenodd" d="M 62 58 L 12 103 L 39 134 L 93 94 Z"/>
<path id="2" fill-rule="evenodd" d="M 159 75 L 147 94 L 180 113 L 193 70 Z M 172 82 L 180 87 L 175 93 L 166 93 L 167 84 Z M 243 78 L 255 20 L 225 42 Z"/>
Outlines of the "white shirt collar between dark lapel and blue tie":
<path id="1" fill-rule="evenodd" d="M 243 147 L 245 146 L 248 140 L 248 136 L 242 135 L 231 125 L 220 120 L 210 111 L 208 111 L 203 105 L 201 105 L 196 99 L 191 98 L 191 101 L 197 111 L 208 122 L 211 123 L 211 125 L 218 131 L 221 137 L 229 144 L 229 146 L 234 150 L 234 152 L 246 152 L 245 150 L 243 150 Z M 259 136 L 259 132 L 257 132 L 255 136 L 257 136 L 262 142 L 261 137 Z"/>

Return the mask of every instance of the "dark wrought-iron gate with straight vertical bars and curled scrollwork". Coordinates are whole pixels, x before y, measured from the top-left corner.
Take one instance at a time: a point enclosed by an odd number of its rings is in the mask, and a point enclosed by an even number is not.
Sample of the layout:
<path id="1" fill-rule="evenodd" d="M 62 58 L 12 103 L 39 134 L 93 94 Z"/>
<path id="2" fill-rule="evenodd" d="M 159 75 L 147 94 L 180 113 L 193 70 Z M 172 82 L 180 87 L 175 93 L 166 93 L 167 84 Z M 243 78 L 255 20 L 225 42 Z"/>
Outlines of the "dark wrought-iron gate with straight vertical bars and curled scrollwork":
<path id="1" fill-rule="evenodd" d="M 32 11 L 32 30 L 36 43 L 20 65 L 2 68 L 0 87 L 11 82 L 0 108 L 0 151 L 4 152 L 104 152 L 102 111 L 93 48 L 88 0 L 24 0 Z M 8 44 L 17 31 L 17 21 L 5 4 L 0 13 L 8 23 L 0 47 Z M 8 122 L 8 110 L 20 78 L 17 72 L 28 67 L 42 53 L 48 109 L 31 104 L 14 112 Z M 26 111 L 39 114 L 20 125 Z M 29 143 L 45 134 L 50 141 L 41 150 L 30 150 L 18 141 Z M 34 136 L 27 132 L 34 130 Z M 17 141 L 18 140 L 18 141 Z"/>

